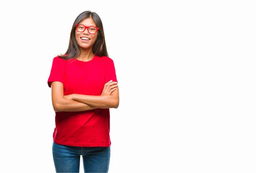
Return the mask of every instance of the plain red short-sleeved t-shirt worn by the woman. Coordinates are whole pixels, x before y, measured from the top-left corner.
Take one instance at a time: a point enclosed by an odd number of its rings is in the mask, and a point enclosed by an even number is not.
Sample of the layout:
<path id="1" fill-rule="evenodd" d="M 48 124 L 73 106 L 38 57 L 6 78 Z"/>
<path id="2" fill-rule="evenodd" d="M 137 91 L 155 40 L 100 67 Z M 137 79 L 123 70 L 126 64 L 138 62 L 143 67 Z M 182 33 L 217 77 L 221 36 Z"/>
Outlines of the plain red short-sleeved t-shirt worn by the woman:
<path id="1" fill-rule="evenodd" d="M 54 57 L 48 86 L 62 82 L 64 95 L 101 95 L 105 83 L 117 82 L 113 60 L 95 55 L 92 60 L 63 60 Z M 55 112 L 53 142 L 78 147 L 109 147 L 111 140 L 109 109 Z"/>

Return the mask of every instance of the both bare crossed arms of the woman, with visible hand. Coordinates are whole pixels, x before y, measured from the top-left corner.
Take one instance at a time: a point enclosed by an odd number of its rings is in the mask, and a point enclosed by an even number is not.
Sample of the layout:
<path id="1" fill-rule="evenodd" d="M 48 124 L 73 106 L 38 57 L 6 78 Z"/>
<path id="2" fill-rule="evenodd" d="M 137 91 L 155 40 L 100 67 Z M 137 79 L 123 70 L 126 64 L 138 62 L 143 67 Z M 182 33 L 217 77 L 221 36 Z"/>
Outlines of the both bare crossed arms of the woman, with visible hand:
<path id="1" fill-rule="evenodd" d="M 96 108 L 118 108 L 119 90 L 116 82 L 104 85 L 100 96 L 70 94 L 64 96 L 63 83 L 52 82 L 52 106 L 55 112 L 88 111 Z"/>

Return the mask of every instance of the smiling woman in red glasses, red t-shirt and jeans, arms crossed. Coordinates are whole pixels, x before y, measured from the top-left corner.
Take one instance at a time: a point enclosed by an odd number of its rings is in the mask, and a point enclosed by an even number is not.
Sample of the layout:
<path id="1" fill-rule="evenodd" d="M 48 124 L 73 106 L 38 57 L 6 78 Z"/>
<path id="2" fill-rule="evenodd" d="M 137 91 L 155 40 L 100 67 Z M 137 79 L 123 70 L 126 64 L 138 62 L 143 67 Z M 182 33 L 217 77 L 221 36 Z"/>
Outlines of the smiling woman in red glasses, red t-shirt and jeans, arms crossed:
<path id="1" fill-rule="evenodd" d="M 73 23 L 64 55 L 53 58 L 48 79 L 55 111 L 52 154 L 56 172 L 108 172 L 109 108 L 118 108 L 119 90 L 108 57 L 102 21 L 84 11 Z"/>

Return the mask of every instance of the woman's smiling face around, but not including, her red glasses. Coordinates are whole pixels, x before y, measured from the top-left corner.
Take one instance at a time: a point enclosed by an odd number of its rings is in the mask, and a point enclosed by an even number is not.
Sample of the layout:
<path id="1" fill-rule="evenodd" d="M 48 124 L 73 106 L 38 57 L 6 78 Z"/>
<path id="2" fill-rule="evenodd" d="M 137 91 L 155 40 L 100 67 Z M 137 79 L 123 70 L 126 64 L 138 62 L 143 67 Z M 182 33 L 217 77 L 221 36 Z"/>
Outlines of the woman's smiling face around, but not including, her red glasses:
<path id="1" fill-rule="evenodd" d="M 82 24 L 84 26 L 97 27 L 91 18 L 84 19 L 79 24 Z M 97 35 L 98 35 L 98 31 L 96 32 L 96 34 L 90 34 L 88 32 L 88 28 L 86 28 L 83 32 L 78 32 L 76 30 L 75 35 L 76 35 L 76 42 L 78 43 L 78 45 L 81 48 L 88 49 L 88 48 L 93 47 L 93 44 L 95 43 Z"/>

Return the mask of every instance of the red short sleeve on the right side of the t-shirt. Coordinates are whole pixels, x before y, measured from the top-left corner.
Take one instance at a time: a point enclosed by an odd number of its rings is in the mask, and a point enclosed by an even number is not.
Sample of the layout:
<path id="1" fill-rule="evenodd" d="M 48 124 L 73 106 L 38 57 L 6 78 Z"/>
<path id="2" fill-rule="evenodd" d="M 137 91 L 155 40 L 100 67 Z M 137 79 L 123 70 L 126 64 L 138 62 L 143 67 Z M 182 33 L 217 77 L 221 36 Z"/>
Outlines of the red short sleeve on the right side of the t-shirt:
<path id="1" fill-rule="evenodd" d="M 116 69 L 114 62 L 111 58 L 108 58 L 105 66 L 105 83 L 110 80 L 113 80 L 113 82 L 118 82 L 116 78 Z"/>

